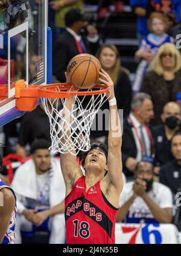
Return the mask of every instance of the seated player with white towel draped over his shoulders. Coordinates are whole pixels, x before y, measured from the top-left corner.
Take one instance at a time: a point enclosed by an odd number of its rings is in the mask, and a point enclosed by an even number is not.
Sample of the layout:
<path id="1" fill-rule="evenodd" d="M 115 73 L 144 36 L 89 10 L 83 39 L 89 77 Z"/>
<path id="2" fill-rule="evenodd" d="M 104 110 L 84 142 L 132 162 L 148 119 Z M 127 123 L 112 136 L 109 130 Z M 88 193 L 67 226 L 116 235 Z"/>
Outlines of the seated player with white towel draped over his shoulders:
<path id="1" fill-rule="evenodd" d="M 64 215 L 54 215 L 54 207 L 65 198 L 65 184 L 49 146 L 46 140 L 35 140 L 32 159 L 16 170 L 11 183 L 17 196 L 16 243 L 21 243 L 21 231 L 34 237 L 39 230 L 51 232 L 49 243 L 65 242 Z"/>

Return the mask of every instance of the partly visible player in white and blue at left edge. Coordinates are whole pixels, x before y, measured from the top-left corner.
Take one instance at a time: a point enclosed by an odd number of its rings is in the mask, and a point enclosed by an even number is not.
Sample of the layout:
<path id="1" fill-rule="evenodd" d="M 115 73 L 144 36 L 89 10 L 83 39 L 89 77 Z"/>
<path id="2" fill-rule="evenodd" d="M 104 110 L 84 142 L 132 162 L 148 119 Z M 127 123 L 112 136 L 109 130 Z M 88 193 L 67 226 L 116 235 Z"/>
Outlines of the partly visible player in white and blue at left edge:
<path id="1" fill-rule="evenodd" d="M 0 166 L 1 168 L 2 166 Z M 1 169 L 0 169 L 1 173 Z M 13 244 L 15 240 L 16 197 L 13 190 L 0 178 L 0 244 Z"/>

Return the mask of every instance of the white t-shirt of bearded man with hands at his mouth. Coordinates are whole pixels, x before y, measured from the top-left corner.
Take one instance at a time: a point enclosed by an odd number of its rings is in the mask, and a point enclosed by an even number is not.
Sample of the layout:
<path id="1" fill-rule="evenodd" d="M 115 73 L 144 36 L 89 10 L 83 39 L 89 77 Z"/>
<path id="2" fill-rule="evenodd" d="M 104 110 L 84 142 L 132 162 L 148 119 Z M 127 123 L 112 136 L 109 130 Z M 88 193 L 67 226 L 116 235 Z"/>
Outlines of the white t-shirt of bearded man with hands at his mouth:
<path id="1" fill-rule="evenodd" d="M 130 197 L 133 195 L 133 184 L 134 181 L 124 184 L 121 196 L 119 199 L 119 206 L 123 206 Z M 156 203 L 160 208 L 172 208 L 173 207 L 173 195 L 169 187 L 164 184 L 153 182 L 153 188 L 148 192 L 149 197 Z M 157 223 L 154 219 L 153 214 L 145 201 L 141 197 L 136 197 L 130 206 L 129 212 L 125 217 L 126 223 Z"/>

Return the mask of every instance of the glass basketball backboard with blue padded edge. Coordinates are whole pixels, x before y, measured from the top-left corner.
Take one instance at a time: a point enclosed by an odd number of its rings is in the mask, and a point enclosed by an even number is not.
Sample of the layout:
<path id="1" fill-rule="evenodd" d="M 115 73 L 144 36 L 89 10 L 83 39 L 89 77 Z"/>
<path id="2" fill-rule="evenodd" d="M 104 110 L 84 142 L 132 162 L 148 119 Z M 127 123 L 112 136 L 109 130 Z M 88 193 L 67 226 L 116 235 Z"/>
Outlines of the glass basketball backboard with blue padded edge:
<path id="1" fill-rule="evenodd" d="M 0 126 L 23 115 L 16 109 L 14 98 L 17 80 L 51 83 L 48 0 L 8 2 L 5 10 L 0 9 Z"/>

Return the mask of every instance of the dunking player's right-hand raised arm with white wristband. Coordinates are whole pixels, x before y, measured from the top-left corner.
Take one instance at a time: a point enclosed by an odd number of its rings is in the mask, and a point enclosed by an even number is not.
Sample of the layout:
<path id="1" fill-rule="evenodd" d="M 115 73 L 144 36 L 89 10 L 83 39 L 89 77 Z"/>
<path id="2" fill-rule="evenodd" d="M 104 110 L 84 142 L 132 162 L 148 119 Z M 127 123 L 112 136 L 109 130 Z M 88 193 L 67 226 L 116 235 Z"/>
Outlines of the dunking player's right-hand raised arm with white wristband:
<path id="1" fill-rule="evenodd" d="M 114 85 L 110 76 L 101 69 L 100 81 L 109 86 L 110 98 L 109 98 L 109 136 L 108 136 L 108 173 L 107 179 L 111 181 L 118 194 L 120 194 L 123 186 L 122 180 L 122 161 L 121 161 L 121 122 L 119 119 L 118 108 L 116 105 Z"/>

